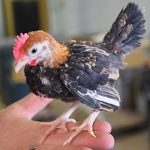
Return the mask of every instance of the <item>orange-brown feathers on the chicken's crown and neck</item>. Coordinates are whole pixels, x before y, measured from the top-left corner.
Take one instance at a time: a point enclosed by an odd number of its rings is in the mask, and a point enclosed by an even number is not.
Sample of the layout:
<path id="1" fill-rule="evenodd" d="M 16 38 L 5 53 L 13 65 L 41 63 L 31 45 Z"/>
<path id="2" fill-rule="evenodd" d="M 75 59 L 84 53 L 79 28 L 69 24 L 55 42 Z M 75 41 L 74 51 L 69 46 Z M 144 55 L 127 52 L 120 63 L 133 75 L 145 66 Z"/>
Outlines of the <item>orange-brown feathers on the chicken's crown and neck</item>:
<path id="1" fill-rule="evenodd" d="M 61 64 L 67 61 L 69 56 L 68 48 L 57 42 L 51 35 L 41 30 L 29 32 L 28 35 L 29 38 L 23 47 L 25 51 L 29 50 L 33 43 L 41 43 L 45 40 L 49 42 L 51 52 L 44 61 L 45 67 L 59 68 Z M 46 49 L 47 47 L 43 46 L 43 51 Z"/>

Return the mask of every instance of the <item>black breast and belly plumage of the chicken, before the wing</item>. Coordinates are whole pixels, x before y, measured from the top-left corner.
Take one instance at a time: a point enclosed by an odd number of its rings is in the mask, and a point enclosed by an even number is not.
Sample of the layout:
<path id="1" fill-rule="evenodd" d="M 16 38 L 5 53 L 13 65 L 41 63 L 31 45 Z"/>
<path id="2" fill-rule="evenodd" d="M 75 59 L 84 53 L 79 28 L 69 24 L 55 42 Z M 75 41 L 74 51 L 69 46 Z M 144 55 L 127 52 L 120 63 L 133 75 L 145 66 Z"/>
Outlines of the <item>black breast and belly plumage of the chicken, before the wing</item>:
<path id="1" fill-rule="evenodd" d="M 61 98 L 67 102 L 76 100 L 62 83 L 58 69 L 45 68 L 42 63 L 39 63 L 34 67 L 26 65 L 24 72 L 30 90 L 36 95 L 55 99 Z"/>

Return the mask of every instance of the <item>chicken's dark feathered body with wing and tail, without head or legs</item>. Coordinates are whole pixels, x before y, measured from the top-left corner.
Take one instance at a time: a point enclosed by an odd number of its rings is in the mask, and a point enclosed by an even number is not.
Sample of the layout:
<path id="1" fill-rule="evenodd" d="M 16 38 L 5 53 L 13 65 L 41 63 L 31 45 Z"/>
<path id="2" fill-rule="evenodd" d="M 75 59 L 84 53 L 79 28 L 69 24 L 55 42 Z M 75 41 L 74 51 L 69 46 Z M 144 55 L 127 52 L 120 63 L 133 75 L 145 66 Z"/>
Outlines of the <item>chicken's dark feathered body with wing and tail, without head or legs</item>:
<path id="1" fill-rule="evenodd" d="M 140 46 L 144 17 L 129 3 L 117 17 L 103 42 L 64 42 L 70 57 L 58 69 L 27 65 L 25 75 L 37 95 L 80 102 L 98 110 L 116 110 L 120 97 L 115 89 L 119 69 L 125 68 L 124 54 Z M 43 79 L 44 78 L 44 79 Z"/>

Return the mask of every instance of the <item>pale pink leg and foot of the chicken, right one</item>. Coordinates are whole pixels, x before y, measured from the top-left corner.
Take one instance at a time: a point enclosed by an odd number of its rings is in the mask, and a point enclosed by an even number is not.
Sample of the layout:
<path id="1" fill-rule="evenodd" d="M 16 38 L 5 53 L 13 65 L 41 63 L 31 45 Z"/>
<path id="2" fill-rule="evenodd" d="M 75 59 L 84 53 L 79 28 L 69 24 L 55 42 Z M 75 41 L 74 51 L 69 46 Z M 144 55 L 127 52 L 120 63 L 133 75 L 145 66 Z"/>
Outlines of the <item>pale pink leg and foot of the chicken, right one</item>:
<path id="1" fill-rule="evenodd" d="M 75 130 L 72 135 L 69 137 L 67 141 L 63 145 L 69 144 L 79 133 L 86 130 L 90 133 L 90 135 L 95 136 L 93 132 L 93 123 L 97 116 L 99 115 L 100 111 L 94 110 L 84 121 L 83 123 L 78 127 L 73 127 L 72 129 Z"/>

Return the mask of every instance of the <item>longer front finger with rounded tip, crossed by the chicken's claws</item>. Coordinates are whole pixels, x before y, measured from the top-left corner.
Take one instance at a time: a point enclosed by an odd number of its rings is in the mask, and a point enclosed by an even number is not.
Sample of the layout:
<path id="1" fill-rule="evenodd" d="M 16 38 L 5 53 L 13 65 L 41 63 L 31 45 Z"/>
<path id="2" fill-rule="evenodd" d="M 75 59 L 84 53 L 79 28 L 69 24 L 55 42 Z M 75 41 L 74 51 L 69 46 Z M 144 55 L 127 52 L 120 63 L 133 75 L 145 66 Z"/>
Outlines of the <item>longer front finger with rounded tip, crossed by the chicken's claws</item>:
<path id="1" fill-rule="evenodd" d="M 114 138 L 111 134 L 106 132 L 94 132 L 96 135 L 92 137 L 87 131 L 80 133 L 72 142 L 71 145 L 86 146 L 92 149 L 111 149 L 114 146 Z M 51 134 L 45 143 L 53 143 L 56 145 L 62 145 L 69 137 L 71 133 L 66 134 Z M 57 139 L 57 140 L 56 140 Z"/>

